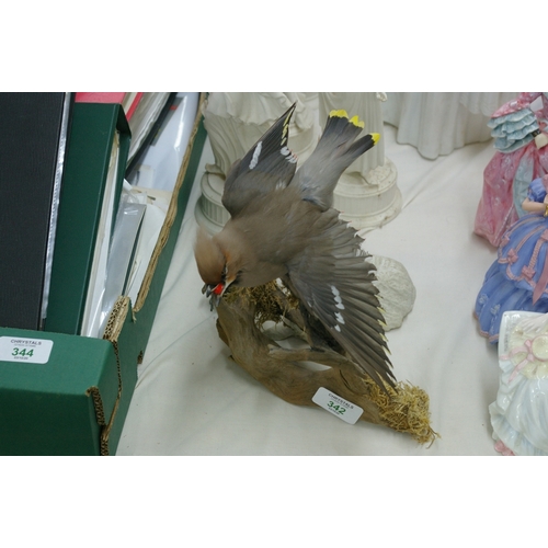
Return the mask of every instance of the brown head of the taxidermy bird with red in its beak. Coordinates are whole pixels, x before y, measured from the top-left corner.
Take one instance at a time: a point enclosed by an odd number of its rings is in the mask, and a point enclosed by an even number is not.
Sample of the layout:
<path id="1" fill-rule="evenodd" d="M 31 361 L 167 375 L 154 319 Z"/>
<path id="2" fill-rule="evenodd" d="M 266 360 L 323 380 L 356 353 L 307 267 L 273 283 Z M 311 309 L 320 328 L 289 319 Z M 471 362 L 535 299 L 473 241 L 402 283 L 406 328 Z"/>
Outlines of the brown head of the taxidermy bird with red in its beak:
<path id="1" fill-rule="evenodd" d="M 236 281 L 238 272 L 232 269 L 228 253 L 219 242 L 210 238 L 202 228 L 197 232 L 194 256 L 199 276 L 205 283 L 202 293 L 207 298 L 210 297 L 213 310 L 214 306 L 219 304 L 230 284 Z"/>

